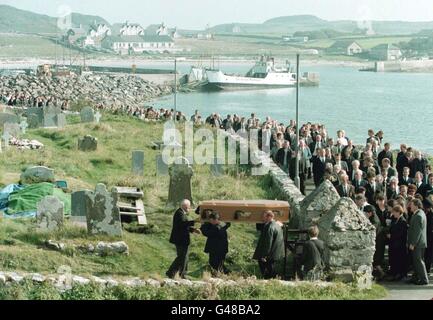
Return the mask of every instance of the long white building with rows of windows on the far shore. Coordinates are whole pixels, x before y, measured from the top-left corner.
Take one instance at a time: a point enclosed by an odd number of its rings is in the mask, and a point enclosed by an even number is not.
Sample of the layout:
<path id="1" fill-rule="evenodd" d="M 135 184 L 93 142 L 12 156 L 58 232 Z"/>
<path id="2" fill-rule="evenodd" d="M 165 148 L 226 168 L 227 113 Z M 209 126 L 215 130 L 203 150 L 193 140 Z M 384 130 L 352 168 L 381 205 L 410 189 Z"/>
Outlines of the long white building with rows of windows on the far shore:
<path id="1" fill-rule="evenodd" d="M 102 47 L 122 55 L 143 52 L 164 53 L 176 50 L 171 37 L 159 35 L 108 36 L 102 41 Z"/>

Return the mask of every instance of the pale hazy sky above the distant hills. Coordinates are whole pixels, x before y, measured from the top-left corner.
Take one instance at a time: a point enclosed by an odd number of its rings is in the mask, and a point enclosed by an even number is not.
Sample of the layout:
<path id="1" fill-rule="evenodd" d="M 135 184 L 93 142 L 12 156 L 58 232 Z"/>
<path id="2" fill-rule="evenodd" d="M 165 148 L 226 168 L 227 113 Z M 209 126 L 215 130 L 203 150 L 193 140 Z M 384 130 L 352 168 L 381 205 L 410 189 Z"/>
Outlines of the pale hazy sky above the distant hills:
<path id="1" fill-rule="evenodd" d="M 164 21 L 203 29 L 227 22 L 261 23 L 269 18 L 314 14 L 327 20 L 433 21 L 433 0 L 0 0 L 20 9 L 56 16 L 59 6 L 100 15 L 110 23 Z"/>

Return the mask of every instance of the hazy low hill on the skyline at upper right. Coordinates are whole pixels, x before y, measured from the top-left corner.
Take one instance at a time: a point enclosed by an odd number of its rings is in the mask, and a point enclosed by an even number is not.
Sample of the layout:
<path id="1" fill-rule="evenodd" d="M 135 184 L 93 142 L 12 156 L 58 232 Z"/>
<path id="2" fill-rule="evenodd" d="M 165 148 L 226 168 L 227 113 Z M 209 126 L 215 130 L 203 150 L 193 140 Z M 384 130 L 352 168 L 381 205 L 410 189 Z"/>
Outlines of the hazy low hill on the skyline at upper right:
<path id="1" fill-rule="evenodd" d="M 374 31 L 379 35 L 402 35 L 433 29 L 431 22 L 372 21 Z M 312 15 L 277 17 L 262 24 L 230 23 L 211 28 L 214 33 L 278 34 L 288 35 L 297 31 L 335 30 L 352 33 L 358 29 L 357 21 L 327 21 Z"/>

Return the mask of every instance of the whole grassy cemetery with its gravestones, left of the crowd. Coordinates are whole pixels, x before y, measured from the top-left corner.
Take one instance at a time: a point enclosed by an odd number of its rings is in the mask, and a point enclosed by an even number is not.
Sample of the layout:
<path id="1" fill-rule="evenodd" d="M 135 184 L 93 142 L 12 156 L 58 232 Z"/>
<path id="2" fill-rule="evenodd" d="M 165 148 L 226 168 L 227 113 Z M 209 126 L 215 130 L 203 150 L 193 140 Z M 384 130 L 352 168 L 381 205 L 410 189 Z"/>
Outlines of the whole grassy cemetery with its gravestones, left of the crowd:
<path id="1" fill-rule="evenodd" d="M 104 284 L 103 292 L 89 289 L 89 299 L 118 298 L 119 292 L 131 299 L 369 299 L 384 294 L 376 285 L 360 290 L 343 283 L 255 280 L 260 272 L 251 257 L 257 233 L 255 224 L 242 223 L 243 219 L 230 229 L 227 265 L 232 275 L 209 279 L 205 238 L 198 236 L 190 249 L 192 279 L 164 279 L 175 257 L 168 239 L 173 209 L 180 200 L 192 200 L 195 208 L 211 199 L 286 199 L 273 187 L 272 175 L 251 176 L 236 165 L 165 165 L 161 150 L 152 147 L 163 136 L 162 123 L 110 114 L 103 114 L 99 123 L 84 118 L 82 113 L 68 115 L 67 125 L 56 128 L 29 126 L 21 138 L 40 141 L 43 148 L 3 148 L 0 153 L 0 288 L 2 279 L 9 283 L 5 291 L 0 289 L 0 297 L 28 282 L 32 290 L 44 283 L 51 297 L 63 299 L 64 291 L 56 290 L 56 283 L 65 266 L 78 288 Z M 331 207 L 338 215 L 339 207 Z M 192 212 L 192 219 L 197 218 Z M 335 252 L 335 259 L 344 254 Z M 110 283 L 121 291 L 113 293 Z M 194 290 L 187 289 L 191 285 Z"/>

